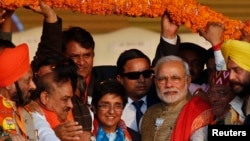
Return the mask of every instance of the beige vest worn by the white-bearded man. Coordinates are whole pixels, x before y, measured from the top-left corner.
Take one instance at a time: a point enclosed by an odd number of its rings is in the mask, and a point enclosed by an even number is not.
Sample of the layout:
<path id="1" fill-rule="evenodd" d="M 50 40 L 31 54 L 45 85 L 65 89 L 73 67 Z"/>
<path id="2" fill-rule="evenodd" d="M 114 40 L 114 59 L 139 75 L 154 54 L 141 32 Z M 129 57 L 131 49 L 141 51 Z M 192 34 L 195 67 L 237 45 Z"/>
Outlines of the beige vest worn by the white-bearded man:
<path id="1" fill-rule="evenodd" d="M 142 141 L 170 141 L 176 119 L 185 102 L 180 103 L 171 111 L 164 103 L 150 107 L 141 122 Z"/>

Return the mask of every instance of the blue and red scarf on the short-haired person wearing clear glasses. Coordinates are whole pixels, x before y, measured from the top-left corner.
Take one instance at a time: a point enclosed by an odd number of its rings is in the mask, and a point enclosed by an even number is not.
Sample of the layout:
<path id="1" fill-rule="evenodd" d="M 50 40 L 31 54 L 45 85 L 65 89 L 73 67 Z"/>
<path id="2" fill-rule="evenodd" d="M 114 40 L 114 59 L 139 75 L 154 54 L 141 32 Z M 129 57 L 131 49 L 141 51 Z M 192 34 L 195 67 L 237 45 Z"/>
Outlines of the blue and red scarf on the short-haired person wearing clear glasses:
<path id="1" fill-rule="evenodd" d="M 115 141 L 132 141 L 132 138 L 127 130 L 123 120 L 120 120 L 116 129 L 116 139 Z M 93 134 L 96 137 L 96 141 L 109 141 L 106 133 L 103 131 L 101 125 L 98 123 L 97 119 L 94 119 L 94 130 Z"/>

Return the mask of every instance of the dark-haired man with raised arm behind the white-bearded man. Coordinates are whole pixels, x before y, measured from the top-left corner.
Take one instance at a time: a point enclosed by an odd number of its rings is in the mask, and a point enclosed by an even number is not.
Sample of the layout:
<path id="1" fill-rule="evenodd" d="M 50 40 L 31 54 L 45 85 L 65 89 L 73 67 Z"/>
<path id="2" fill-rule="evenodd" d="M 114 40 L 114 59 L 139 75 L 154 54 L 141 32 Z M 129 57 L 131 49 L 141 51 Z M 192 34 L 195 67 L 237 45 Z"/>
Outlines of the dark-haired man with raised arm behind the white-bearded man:
<path id="1" fill-rule="evenodd" d="M 152 65 L 155 66 L 161 57 L 177 55 L 189 65 L 192 78 L 191 85 L 189 86 L 191 94 L 194 94 L 199 88 L 206 91 L 208 88 L 208 76 L 204 72 L 204 66 L 207 50 L 191 42 L 181 42 L 180 37 L 177 35 L 178 28 L 179 26 L 171 21 L 168 13 L 162 15 L 161 38 Z"/>

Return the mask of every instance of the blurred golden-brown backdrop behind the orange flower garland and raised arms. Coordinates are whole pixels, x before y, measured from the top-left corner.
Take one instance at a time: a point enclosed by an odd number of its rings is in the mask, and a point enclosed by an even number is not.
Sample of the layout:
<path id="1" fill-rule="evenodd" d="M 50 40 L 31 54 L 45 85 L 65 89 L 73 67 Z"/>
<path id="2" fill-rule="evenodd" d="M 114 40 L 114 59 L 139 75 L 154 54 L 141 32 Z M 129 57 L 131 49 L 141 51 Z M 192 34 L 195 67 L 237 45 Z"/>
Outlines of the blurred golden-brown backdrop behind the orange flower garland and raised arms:
<path id="1" fill-rule="evenodd" d="M 211 9 L 223 13 L 232 19 L 250 19 L 250 0 L 197 0 L 197 2 L 209 6 Z M 63 27 L 71 25 L 81 26 L 92 34 L 107 33 L 125 27 L 140 27 L 156 32 L 160 32 L 160 18 L 127 17 L 117 15 L 83 15 L 74 13 L 70 10 L 56 10 L 57 14 L 63 19 Z M 24 8 L 16 10 L 16 16 L 20 21 L 20 29 L 25 30 L 41 26 L 42 17 Z M 189 29 L 180 27 L 179 32 L 187 33 Z"/>

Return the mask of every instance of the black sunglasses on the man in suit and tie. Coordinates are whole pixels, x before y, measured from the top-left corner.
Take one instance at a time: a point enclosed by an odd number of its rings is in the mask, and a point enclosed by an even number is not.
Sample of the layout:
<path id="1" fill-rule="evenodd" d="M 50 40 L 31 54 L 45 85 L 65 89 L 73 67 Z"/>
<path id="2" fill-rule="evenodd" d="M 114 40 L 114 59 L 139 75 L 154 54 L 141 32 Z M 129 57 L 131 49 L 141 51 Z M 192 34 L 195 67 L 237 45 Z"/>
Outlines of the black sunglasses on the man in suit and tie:
<path id="1" fill-rule="evenodd" d="M 149 78 L 153 75 L 154 71 L 153 70 L 145 70 L 142 72 L 128 72 L 128 73 L 123 73 L 122 76 L 127 77 L 128 79 L 131 80 L 136 80 L 139 79 L 140 76 L 142 75 L 144 78 Z"/>

